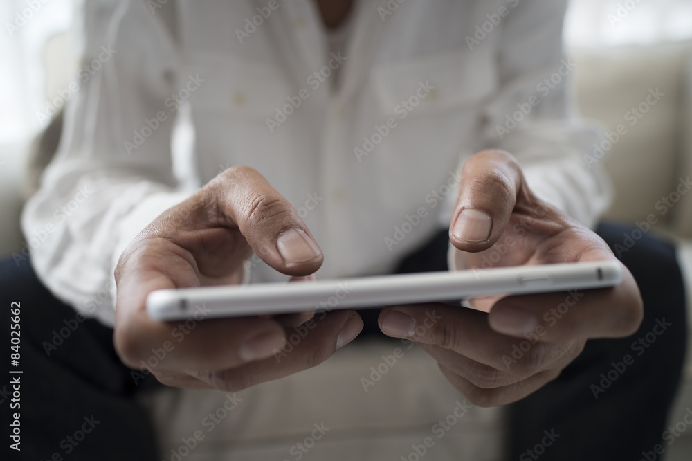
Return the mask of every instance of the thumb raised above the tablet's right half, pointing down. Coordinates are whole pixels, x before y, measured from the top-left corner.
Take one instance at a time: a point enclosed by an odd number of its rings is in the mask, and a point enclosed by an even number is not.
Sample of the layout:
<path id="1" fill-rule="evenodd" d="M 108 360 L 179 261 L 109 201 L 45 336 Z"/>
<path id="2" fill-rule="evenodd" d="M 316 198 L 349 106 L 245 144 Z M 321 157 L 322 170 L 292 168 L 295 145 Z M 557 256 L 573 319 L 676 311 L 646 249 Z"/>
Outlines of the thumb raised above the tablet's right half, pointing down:
<path id="1" fill-rule="evenodd" d="M 528 193 L 516 159 L 503 150 L 471 156 L 462 170 L 459 198 L 449 239 L 462 251 L 483 251 L 498 241 L 507 227 L 520 193 Z"/>

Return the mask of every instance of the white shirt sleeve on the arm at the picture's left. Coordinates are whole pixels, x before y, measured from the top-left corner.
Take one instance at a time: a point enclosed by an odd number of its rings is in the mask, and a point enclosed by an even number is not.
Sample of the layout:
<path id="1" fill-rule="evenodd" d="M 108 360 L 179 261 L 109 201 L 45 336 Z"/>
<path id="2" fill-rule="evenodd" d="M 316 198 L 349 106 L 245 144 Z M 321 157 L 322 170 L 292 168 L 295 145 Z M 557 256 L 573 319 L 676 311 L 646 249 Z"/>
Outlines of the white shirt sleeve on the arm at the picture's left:
<path id="1" fill-rule="evenodd" d="M 82 68 L 60 147 L 24 208 L 31 264 L 57 298 L 113 324 L 113 270 L 149 222 L 190 195 L 173 173 L 172 38 L 143 1 L 86 1 Z"/>

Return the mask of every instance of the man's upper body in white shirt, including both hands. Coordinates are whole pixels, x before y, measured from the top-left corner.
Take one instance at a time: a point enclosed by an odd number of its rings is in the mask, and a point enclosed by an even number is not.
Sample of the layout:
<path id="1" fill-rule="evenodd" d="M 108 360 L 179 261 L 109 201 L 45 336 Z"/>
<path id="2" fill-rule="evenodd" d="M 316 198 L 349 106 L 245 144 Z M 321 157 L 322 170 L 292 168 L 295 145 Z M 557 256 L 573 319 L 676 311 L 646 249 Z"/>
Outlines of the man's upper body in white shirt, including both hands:
<path id="1" fill-rule="evenodd" d="M 172 30 L 157 5 L 125 1 L 107 28 L 87 25 L 87 57 L 100 40 L 112 57 L 75 96 L 23 219 L 32 235 L 88 195 L 32 263 L 56 296 L 114 325 L 125 365 L 141 368 L 172 334 L 145 314 L 155 289 L 386 273 L 440 228 L 452 269 L 486 267 L 490 255 L 494 266 L 617 260 L 588 228 L 607 194 L 581 160 L 593 133 L 567 108 L 564 1 L 180 1 Z M 186 116 L 187 159 L 170 148 Z M 642 301 L 623 271 L 619 286 L 583 293 L 559 317 L 547 314 L 567 293 L 504 298 L 489 314 L 388 307 L 378 325 L 420 345 L 474 404 L 510 404 L 556 379 L 588 340 L 637 332 Z M 87 309 L 113 273 L 115 302 Z M 363 328 L 355 311 L 329 312 L 277 363 L 309 308 L 201 322 L 150 372 L 167 386 L 242 390 L 325 361 Z M 417 329 L 431 309 L 439 323 Z M 509 365 L 518 339 L 538 332 Z M 659 439 L 665 414 L 644 443 Z M 612 446 L 593 443 L 608 459 Z M 552 456 L 583 459 L 574 444 Z"/>

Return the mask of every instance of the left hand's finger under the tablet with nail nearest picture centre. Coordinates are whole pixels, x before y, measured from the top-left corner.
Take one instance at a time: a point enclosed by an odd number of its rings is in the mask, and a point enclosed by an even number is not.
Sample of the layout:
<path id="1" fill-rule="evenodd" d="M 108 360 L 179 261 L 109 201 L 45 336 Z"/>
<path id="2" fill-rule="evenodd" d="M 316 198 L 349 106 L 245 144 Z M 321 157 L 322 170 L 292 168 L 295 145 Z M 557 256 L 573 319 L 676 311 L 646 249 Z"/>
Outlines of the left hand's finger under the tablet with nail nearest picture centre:
<path id="1" fill-rule="evenodd" d="M 351 310 L 322 312 L 303 327 L 300 333 L 297 329 L 287 329 L 289 341 L 268 359 L 228 370 L 195 372 L 193 376 L 225 392 L 280 379 L 327 360 L 339 347 L 358 336 L 363 320 Z"/>

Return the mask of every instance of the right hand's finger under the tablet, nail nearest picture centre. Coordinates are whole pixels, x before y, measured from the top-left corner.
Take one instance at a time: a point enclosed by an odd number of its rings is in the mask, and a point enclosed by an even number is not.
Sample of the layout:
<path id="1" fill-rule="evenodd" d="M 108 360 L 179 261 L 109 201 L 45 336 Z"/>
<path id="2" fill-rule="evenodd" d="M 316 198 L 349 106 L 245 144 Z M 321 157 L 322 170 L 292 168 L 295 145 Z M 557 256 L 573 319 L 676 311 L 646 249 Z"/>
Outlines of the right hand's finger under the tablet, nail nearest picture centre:
<path id="1" fill-rule="evenodd" d="M 421 347 L 423 344 L 436 345 L 489 368 L 507 370 L 515 377 L 543 370 L 560 356 L 556 347 L 532 341 L 528 350 L 513 359 L 516 363 L 511 363 L 508 370 L 507 357 L 516 356 L 513 350 L 520 341 L 491 329 L 488 314 L 464 307 L 439 304 L 388 307 L 380 313 L 378 321 L 380 329 L 388 336 L 408 338 Z M 443 359 L 442 356 L 435 358 Z M 445 363 L 453 367 L 451 359 Z"/>

